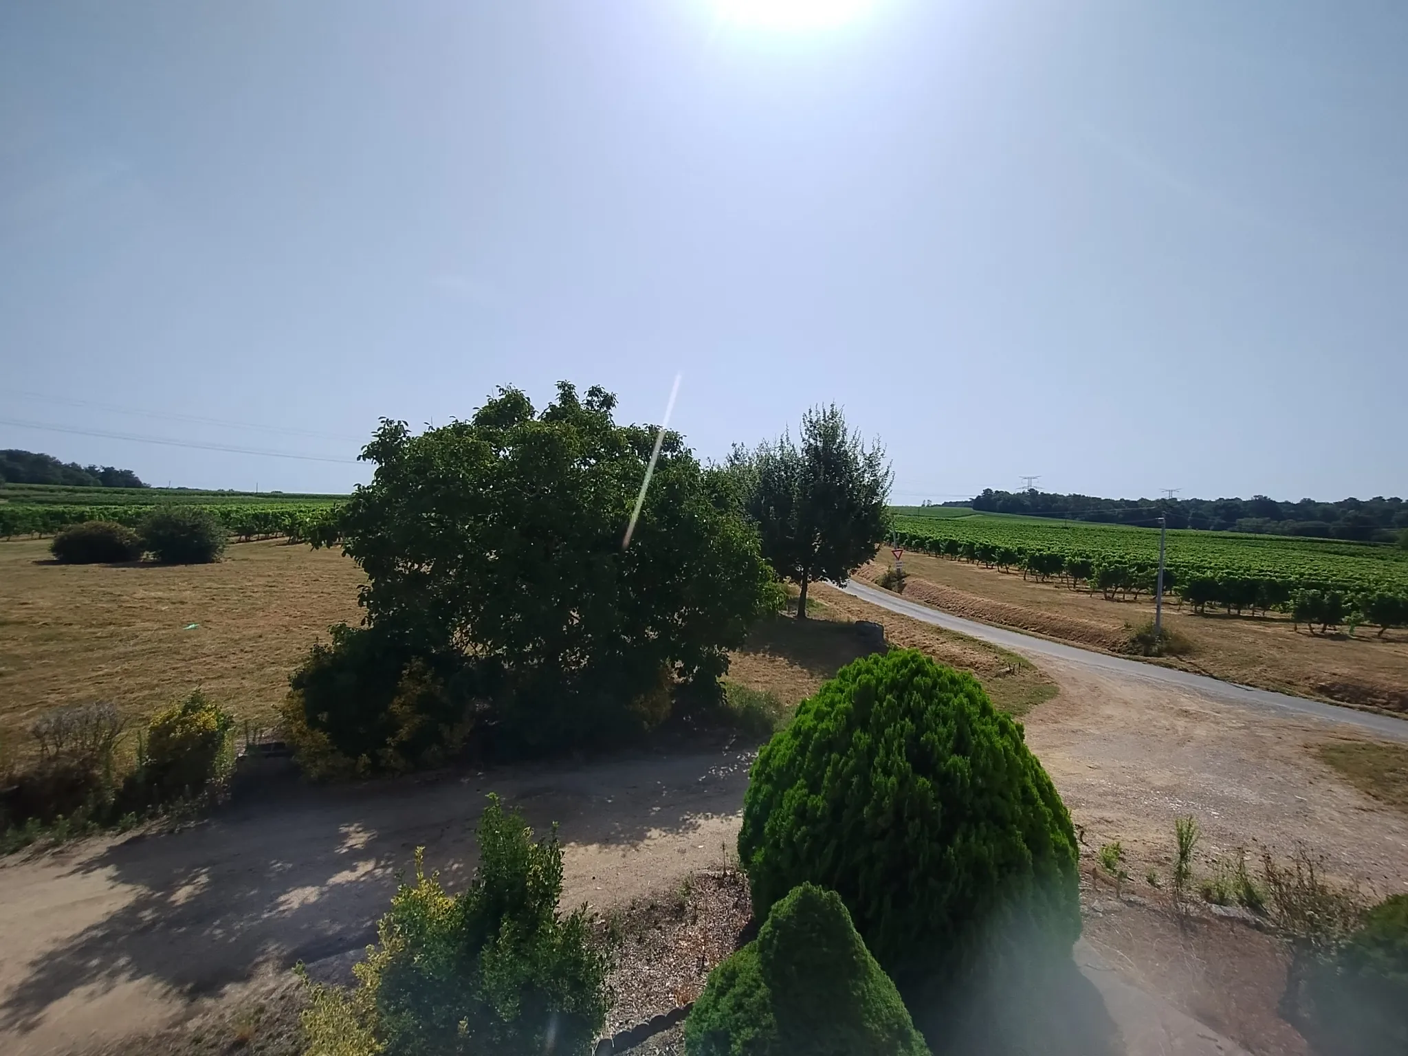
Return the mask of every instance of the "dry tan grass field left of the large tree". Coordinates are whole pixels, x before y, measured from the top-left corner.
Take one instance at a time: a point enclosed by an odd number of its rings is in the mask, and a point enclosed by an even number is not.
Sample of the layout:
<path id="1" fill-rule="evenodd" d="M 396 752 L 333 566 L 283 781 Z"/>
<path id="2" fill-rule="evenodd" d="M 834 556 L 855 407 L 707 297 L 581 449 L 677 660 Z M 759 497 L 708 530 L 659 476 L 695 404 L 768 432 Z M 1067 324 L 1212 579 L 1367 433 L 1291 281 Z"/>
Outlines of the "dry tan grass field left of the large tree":
<path id="1" fill-rule="evenodd" d="M 360 617 L 362 573 L 337 551 L 251 542 L 175 566 L 48 558 L 48 541 L 0 542 L 0 736 L 15 750 L 45 708 L 106 700 L 145 715 L 194 689 L 269 724 L 298 658 Z"/>

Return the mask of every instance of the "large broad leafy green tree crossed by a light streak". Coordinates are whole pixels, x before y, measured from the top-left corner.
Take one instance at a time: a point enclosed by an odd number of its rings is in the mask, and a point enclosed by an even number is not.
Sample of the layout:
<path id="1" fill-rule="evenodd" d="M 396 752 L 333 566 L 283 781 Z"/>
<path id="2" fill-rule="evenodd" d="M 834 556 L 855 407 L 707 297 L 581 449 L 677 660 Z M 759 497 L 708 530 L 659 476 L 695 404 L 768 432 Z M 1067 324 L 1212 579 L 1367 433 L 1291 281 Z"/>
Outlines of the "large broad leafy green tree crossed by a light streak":
<path id="1" fill-rule="evenodd" d="M 469 421 L 413 436 L 383 421 L 342 517 L 366 572 L 367 622 L 458 655 L 515 749 L 572 745 L 663 717 L 673 679 L 712 680 L 769 597 L 772 573 L 732 482 L 615 397 L 563 382 L 536 413 L 501 389 Z"/>

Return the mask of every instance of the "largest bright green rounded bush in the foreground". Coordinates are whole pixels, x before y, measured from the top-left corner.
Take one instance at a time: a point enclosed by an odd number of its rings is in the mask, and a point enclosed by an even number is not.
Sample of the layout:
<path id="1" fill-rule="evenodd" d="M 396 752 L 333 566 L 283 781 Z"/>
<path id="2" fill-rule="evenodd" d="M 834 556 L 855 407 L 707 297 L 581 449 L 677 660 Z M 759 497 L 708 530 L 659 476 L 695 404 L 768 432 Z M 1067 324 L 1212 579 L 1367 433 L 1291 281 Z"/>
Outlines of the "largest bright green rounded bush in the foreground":
<path id="1" fill-rule="evenodd" d="M 755 914 L 835 890 L 903 993 L 1080 936 L 1076 835 L 1022 727 L 914 649 L 803 701 L 753 763 L 738 852 Z"/>

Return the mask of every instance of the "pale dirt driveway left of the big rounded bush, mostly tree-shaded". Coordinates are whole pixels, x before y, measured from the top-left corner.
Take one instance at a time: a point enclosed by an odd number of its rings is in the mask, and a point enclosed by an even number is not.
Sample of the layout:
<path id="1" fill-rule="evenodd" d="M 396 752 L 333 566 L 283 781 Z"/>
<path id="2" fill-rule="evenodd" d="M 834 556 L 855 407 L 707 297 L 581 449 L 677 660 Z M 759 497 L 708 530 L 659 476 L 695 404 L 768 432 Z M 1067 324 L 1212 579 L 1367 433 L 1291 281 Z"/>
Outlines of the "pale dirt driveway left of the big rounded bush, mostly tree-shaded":
<path id="1" fill-rule="evenodd" d="M 425 846 L 453 887 L 498 793 L 560 822 L 565 901 L 611 907 L 732 849 L 752 749 L 641 753 L 483 777 L 268 787 L 169 835 L 89 841 L 0 866 L 0 1052 L 68 1052 L 149 1031 L 260 969 L 372 938 Z"/>

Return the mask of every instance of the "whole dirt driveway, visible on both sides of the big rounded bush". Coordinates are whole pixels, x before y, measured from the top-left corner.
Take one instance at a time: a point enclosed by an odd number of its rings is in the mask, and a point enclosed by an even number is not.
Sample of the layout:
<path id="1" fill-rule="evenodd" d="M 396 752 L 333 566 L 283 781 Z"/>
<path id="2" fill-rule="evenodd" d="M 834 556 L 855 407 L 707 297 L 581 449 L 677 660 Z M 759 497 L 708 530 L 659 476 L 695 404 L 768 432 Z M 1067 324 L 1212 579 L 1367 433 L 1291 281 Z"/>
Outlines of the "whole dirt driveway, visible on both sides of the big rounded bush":
<path id="1" fill-rule="evenodd" d="M 915 621 L 865 614 L 893 641 L 922 645 Z M 1408 890 L 1408 818 L 1309 750 L 1333 729 L 1042 663 L 1062 691 L 1026 715 L 1028 742 L 1087 846 L 1119 839 L 1136 881 L 1146 865 L 1166 867 L 1173 818 L 1193 814 L 1207 853 L 1255 855 L 1263 843 L 1287 853 L 1302 841 L 1380 894 Z M 260 966 L 360 945 L 417 845 L 452 886 L 465 874 L 489 791 L 535 826 L 560 822 L 567 903 L 658 891 L 731 852 L 750 759 L 719 742 L 438 781 L 290 783 L 183 832 L 11 859 L 0 865 L 0 1050 L 65 1052 L 151 1029 L 190 998 L 237 994 Z"/>

